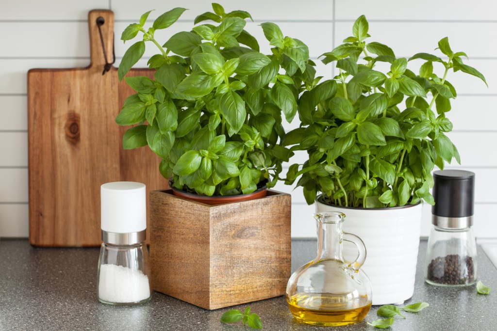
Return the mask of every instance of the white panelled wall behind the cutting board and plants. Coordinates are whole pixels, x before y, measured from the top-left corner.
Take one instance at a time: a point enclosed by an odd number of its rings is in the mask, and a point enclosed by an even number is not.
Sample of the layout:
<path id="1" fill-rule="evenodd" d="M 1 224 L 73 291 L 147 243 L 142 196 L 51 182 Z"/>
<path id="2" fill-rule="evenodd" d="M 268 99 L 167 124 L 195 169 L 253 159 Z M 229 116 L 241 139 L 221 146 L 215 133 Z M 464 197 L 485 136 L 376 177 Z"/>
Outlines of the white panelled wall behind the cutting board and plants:
<path id="1" fill-rule="evenodd" d="M 365 14 L 370 22 L 372 40 L 391 46 L 396 55 L 407 57 L 416 52 L 432 52 L 437 41 L 449 37 L 452 49 L 465 51 L 469 65 L 483 72 L 486 88 L 478 79 L 453 74 L 448 79 L 456 86 L 449 118 L 454 123 L 451 139 L 458 146 L 462 164 L 451 165 L 474 171 L 476 180 L 475 232 L 480 238 L 497 238 L 497 2 L 494 0 L 219 0 L 227 10 L 249 11 L 255 22 L 247 29 L 264 44 L 264 21 L 280 25 L 285 35 L 303 40 L 311 57 L 330 51 L 348 36 L 355 18 Z M 189 29 L 193 18 L 210 10 L 210 1 L 183 0 L 16 0 L 0 5 L 0 236 L 28 236 L 27 184 L 27 102 L 26 74 L 34 67 L 79 67 L 89 63 L 87 12 L 111 9 L 119 36 L 130 23 L 150 9 L 151 20 L 175 6 L 186 11 L 171 28 L 158 33 L 166 40 L 179 29 Z M 118 65 L 125 46 L 116 40 Z M 262 45 L 261 45 L 262 46 Z M 262 47 L 268 51 L 269 47 Z M 154 54 L 149 48 L 147 55 Z M 146 60 L 139 63 L 146 65 Z M 410 68 L 417 70 L 416 65 Z M 331 66 L 318 63 L 318 72 L 331 78 Z M 298 126 L 293 123 L 288 129 Z M 294 157 L 298 162 L 299 155 Z M 278 185 L 280 191 L 291 187 Z M 315 225 L 313 206 L 304 202 L 301 190 L 292 192 L 292 236 L 311 237 Z M 429 206 L 425 206 L 421 234 L 429 229 Z"/>

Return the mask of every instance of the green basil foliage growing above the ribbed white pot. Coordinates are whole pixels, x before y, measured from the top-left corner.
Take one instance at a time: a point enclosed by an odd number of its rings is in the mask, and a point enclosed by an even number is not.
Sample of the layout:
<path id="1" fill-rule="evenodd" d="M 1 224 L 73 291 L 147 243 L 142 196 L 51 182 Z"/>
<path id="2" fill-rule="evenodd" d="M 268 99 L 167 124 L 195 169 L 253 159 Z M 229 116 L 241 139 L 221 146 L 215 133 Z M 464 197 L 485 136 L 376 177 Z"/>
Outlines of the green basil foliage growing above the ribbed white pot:
<path id="1" fill-rule="evenodd" d="M 441 56 L 418 53 L 397 58 L 392 49 L 369 38 L 368 22 L 360 16 L 352 36 L 325 53 L 336 76 L 308 86 L 299 99 L 300 128 L 288 132 L 285 145 L 306 150 L 303 164 L 290 166 L 286 183 L 303 187 L 307 203 L 319 192 L 322 201 L 339 206 L 393 207 L 424 199 L 434 204 L 429 188 L 434 166 L 459 154 L 445 134 L 454 86 L 449 71 L 481 78 L 453 52 L 448 38 L 438 43 Z M 422 65 L 419 73 L 408 69 Z M 377 67 L 383 68 L 383 72 Z M 485 82 L 486 83 L 486 82 Z"/>

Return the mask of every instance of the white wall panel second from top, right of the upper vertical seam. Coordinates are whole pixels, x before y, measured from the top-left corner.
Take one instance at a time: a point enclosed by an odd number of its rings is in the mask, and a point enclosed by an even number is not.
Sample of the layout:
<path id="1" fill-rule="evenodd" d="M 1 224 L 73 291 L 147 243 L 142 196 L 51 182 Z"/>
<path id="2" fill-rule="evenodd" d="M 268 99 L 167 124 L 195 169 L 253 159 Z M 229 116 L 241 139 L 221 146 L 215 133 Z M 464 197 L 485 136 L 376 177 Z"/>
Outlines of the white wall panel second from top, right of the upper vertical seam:
<path id="1" fill-rule="evenodd" d="M 335 23 L 335 40 L 339 45 L 343 39 L 352 35 L 353 22 Z M 472 57 L 495 57 L 497 45 L 486 42 L 491 40 L 497 29 L 495 23 L 460 22 L 370 22 L 369 34 L 366 42 L 380 42 L 390 46 L 397 57 L 410 57 L 415 53 L 431 53 L 443 56 L 438 47 L 438 41 L 449 38 L 451 49 L 454 52 L 466 52 Z M 406 42 L 406 36 L 409 42 Z M 471 36 L 471 38 L 468 38 Z"/>

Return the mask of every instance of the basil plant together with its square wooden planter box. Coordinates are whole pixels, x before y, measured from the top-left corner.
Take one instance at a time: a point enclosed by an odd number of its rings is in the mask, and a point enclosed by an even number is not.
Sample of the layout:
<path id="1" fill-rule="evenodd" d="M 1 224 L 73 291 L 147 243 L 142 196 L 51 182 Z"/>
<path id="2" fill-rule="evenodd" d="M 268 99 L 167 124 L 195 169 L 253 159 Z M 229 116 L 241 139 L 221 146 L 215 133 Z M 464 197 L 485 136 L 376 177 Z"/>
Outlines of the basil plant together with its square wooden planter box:
<path id="1" fill-rule="evenodd" d="M 293 155 L 282 144 L 283 117 L 292 121 L 303 81 L 314 73 L 307 46 L 284 36 L 276 24 L 260 24 L 272 46 L 265 55 L 245 30 L 248 12 L 226 12 L 217 3 L 212 7 L 213 12 L 196 17 L 191 30 L 165 42 L 156 40 L 156 31 L 168 28 L 186 9 L 169 10 L 146 28 L 149 11 L 124 30 L 123 41 L 138 34 L 143 40 L 128 48 L 119 65 L 119 79 L 137 93 L 116 117 L 119 125 L 136 125 L 125 133 L 124 148 L 148 145 L 159 155 L 159 171 L 171 178 L 174 194 L 212 204 L 173 198 L 168 191 L 151 194 L 154 287 L 207 309 L 285 293 L 290 276 L 289 195 L 273 192 L 236 205 L 219 205 L 219 200 L 205 197 L 249 196 L 275 185 L 281 163 Z M 156 69 L 154 78 L 125 77 L 146 45 L 158 51 L 148 60 Z M 256 217 L 261 210 L 265 216 Z M 190 220 L 205 223 L 189 229 Z M 226 254 L 223 250 L 230 245 L 247 249 Z M 230 279 L 217 269 L 228 272 Z M 209 281 L 199 282 L 199 274 Z M 237 292 L 240 282 L 248 284 L 246 290 L 227 295 Z"/>

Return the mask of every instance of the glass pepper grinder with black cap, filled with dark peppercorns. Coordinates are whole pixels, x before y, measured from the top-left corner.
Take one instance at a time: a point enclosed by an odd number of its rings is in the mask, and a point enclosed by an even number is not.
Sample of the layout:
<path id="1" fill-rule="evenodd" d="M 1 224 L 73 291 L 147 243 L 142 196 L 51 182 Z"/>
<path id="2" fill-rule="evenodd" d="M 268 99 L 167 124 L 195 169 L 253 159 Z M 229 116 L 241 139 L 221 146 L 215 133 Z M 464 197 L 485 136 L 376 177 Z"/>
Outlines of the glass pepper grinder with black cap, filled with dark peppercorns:
<path id="1" fill-rule="evenodd" d="M 477 279 L 473 234 L 475 174 L 465 170 L 433 173 L 432 218 L 425 281 L 437 286 L 469 286 Z"/>

